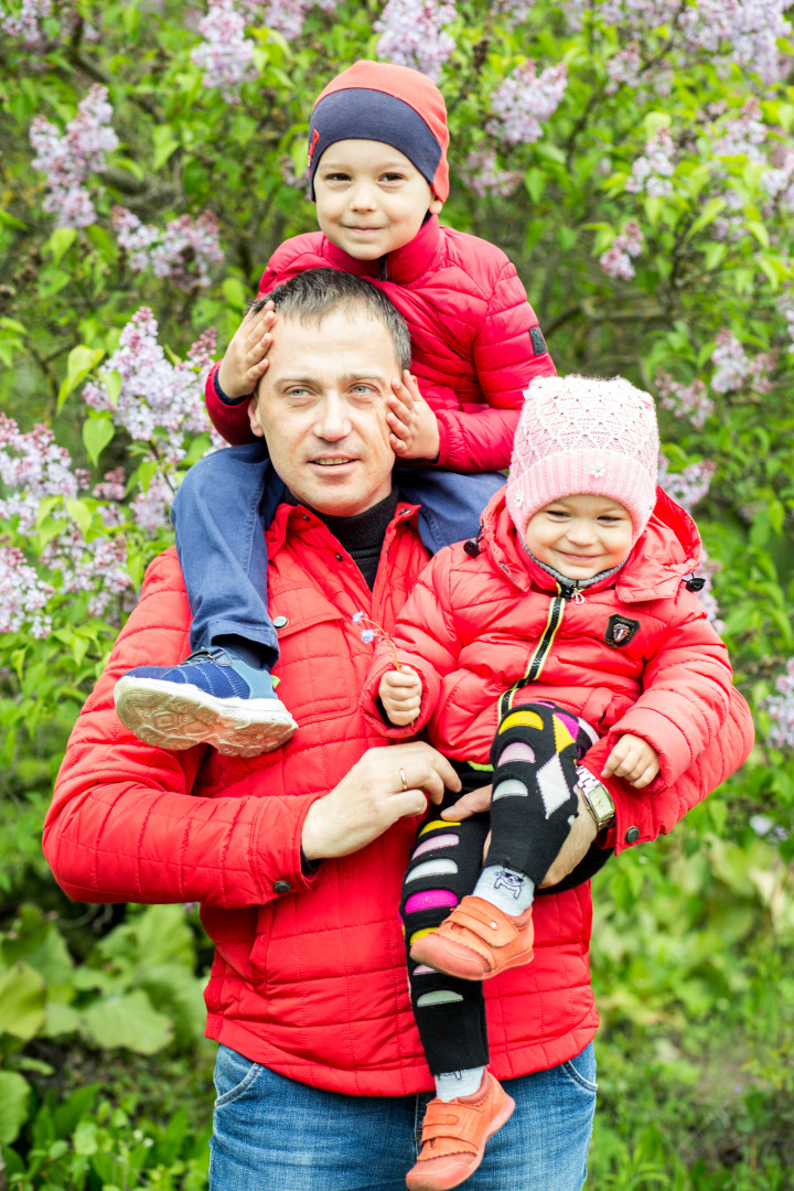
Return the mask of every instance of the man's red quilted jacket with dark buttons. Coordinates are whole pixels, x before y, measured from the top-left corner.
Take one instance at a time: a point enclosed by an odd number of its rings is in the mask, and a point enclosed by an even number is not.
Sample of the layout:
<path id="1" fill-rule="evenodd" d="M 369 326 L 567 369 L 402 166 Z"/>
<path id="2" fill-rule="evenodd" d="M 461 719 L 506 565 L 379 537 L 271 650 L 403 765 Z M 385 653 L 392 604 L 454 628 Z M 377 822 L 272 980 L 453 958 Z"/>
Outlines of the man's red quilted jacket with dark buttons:
<path id="1" fill-rule="evenodd" d="M 202 748 L 165 753 L 120 724 L 117 679 L 187 651 L 190 613 L 168 550 L 149 568 L 140 604 L 71 734 L 44 850 L 61 886 L 82 902 L 201 903 L 215 944 L 210 1037 L 332 1091 L 430 1090 L 398 917 L 417 821 L 323 861 L 312 877 L 300 862 L 311 804 L 385 743 L 358 710 L 373 654 L 351 617 L 363 610 L 393 628 L 427 559 L 415 506 L 398 506 L 373 592 L 327 528 L 300 506 L 281 506 L 268 553 L 270 613 L 287 619 L 276 673 L 300 724 L 296 736 L 275 753 L 240 759 Z M 746 706 L 736 699 L 733 713 L 746 724 Z M 739 763 L 736 736 L 725 731 L 709 753 L 700 786 L 688 774 L 684 800 L 711 788 L 714 766 Z M 589 885 L 538 899 L 534 961 L 488 981 L 498 1078 L 563 1062 L 593 1039 L 590 919 Z"/>

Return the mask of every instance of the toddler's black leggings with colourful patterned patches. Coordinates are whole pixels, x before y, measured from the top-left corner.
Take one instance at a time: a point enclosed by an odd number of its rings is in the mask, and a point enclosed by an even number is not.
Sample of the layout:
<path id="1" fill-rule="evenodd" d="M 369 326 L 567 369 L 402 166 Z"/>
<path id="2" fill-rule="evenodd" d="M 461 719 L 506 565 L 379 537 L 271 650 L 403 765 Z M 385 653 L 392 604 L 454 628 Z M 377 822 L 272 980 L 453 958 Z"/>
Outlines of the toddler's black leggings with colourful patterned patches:
<path id="1" fill-rule="evenodd" d="M 493 800 L 489 812 L 461 822 L 440 818 L 461 794 L 449 791 L 431 805 L 419 828 L 402 886 L 400 915 L 406 949 L 418 935 L 434 930 L 471 893 L 486 865 L 502 865 L 537 886 L 551 867 L 576 816 L 575 766 L 596 740 L 595 731 L 562 707 L 538 700 L 508 711 L 490 749 Z M 492 775 L 456 763 L 463 792 L 487 785 Z M 584 861 L 552 892 L 587 880 L 608 852 Z M 587 860 L 588 858 L 586 858 Z M 408 955 L 411 1003 L 433 1075 L 488 1062 L 482 985 L 417 965 Z"/>

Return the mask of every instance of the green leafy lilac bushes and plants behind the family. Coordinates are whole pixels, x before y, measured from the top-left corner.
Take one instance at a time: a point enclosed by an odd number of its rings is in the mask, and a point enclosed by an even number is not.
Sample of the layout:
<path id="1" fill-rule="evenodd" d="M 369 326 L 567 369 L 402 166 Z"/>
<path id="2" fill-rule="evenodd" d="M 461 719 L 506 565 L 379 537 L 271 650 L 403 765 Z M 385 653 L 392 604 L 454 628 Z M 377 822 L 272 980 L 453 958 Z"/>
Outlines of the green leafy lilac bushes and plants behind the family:
<path id="1" fill-rule="evenodd" d="M 333 12 L 312 10 L 293 42 L 252 26 L 256 79 L 236 102 L 202 85 L 187 5 L 56 2 L 38 50 L 0 39 L 0 409 L 23 430 L 50 425 L 95 480 L 125 469 L 119 516 L 136 584 L 170 541 L 129 512 L 161 467 L 163 435 L 131 441 L 110 411 L 89 413 L 81 385 L 144 304 L 176 356 L 211 325 L 220 347 L 227 341 L 270 251 L 314 227 L 283 167 L 302 169 L 319 88 L 376 55 L 381 8 L 343 0 Z M 723 329 L 750 356 L 776 353 L 769 391 L 712 389 L 715 410 L 701 428 L 662 412 L 674 473 L 715 464 L 698 519 L 721 567 L 713 590 L 759 743 L 669 840 L 625 853 L 595 883 L 604 1028 L 588 1186 L 780 1191 L 794 1186 L 794 774 L 790 753 L 767 743 L 764 709 L 794 654 L 792 214 L 769 201 L 757 161 L 720 154 L 714 130 L 755 96 L 770 144 L 786 146 L 794 87 L 762 83 L 731 63 L 730 46 L 726 66 L 683 49 L 676 26 L 650 23 L 637 35 L 602 20 L 594 4 L 573 29 L 565 8 L 538 0 L 513 25 L 507 5 L 457 5 L 456 48 L 440 76 L 452 173 L 443 219 L 512 256 L 561 373 L 620 372 L 652 388 L 664 369 L 709 385 Z M 613 89 L 607 64 L 630 39 L 645 74 Z M 794 54 L 784 38 L 780 49 Z M 487 131 L 490 96 L 526 57 L 539 69 L 564 62 L 568 89 L 539 141 L 508 146 Z M 42 206 L 44 176 L 31 167 L 30 125 L 44 116 L 63 129 L 95 82 L 108 88 L 120 146 L 92 180 L 96 223 L 56 229 Z M 671 193 L 627 191 L 632 162 L 662 129 L 677 149 Z M 506 197 L 464 182 L 469 156 L 487 148 L 520 174 Z M 113 204 L 161 227 L 212 211 L 225 257 L 211 286 L 176 289 L 133 273 Z M 738 230 L 717 235 L 726 213 Z M 599 258 L 629 220 L 644 250 L 631 281 L 611 280 Z M 188 445 L 175 482 L 207 441 Z M 38 537 L 14 518 L 0 524 L 0 541 L 55 587 L 55 631 L 36 640 L 20 629 L 0 646 L 0 1187 L 198 1191 L 212 1100 L 200 997 L 210 949 L 198 916 L 75 906 L 40 856 L 69 729 L 124 615 L 114 604 L 92 617 L 87 597 L 65 594 L 40 554 L 75 522 L 87 544 L 119 532 L 102 506 L 56 495 L 40 510 Z M 757 816 L 764 835 L 750 825 Z"/>

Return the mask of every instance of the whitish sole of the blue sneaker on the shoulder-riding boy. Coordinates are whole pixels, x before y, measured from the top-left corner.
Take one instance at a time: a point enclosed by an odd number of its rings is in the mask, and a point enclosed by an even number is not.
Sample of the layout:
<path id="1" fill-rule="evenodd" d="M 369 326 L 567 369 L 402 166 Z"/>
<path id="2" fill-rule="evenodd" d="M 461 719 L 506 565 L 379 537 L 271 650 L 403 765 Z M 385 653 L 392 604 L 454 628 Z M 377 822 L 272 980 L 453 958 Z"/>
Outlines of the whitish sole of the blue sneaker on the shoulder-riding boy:
<path id="1" fill-rule="evenodd" d="M 169 752 L 212 744 L 225 756 L 258 756 L 285 744 L 298 724 L 279 699 L 218 699 L 195 686 L 120 678 L 115 711 L 145 744 Z"/>

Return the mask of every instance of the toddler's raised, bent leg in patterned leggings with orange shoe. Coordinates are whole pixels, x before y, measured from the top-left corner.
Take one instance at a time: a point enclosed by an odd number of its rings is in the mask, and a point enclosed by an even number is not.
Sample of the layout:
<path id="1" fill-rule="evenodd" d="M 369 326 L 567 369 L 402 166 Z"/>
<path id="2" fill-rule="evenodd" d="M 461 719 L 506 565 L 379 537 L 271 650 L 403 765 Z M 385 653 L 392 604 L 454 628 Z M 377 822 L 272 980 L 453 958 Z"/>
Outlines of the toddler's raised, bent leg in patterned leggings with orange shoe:
<path id="1" fill-rule="evenodd" d="M 492 838 L 467 897 L 413 956 L 448 974 L 484 980 L 532 959 L 531 905 L 577 815 L 576 763 L 595 741 L 589 724 L 539 700 L 507 712 L 490 749 Z"/>

